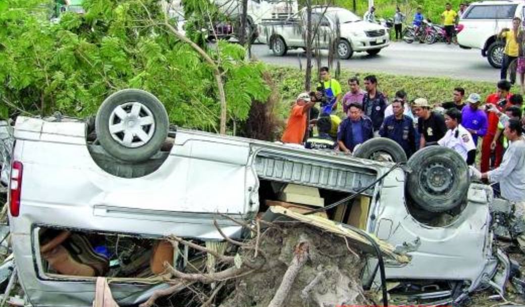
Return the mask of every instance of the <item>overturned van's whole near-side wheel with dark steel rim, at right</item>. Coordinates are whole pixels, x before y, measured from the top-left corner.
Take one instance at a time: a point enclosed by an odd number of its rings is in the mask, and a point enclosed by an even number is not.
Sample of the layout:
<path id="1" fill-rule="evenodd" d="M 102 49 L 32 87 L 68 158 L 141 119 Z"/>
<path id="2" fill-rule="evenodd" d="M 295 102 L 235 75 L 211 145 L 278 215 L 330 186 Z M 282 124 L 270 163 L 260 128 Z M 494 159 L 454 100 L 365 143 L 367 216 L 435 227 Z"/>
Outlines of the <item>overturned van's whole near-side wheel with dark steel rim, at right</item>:
<path id="1" fill-rule="evenodd" d="M 430 212 L 450 210 L 463 202 L 470 177 L 460 154 L 443 146 L 429 146 L 410 157 L 407 165 L 408 195 Z"/>

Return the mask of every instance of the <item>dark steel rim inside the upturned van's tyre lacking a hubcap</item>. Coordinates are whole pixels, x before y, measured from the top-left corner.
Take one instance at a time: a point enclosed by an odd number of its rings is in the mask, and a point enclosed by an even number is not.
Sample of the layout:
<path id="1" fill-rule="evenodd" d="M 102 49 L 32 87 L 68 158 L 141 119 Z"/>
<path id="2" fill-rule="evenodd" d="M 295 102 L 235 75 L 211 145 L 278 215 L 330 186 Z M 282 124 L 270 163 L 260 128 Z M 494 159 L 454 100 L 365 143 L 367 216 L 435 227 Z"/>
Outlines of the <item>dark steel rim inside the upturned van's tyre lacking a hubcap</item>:
<path id="1" fill-rule="evenodd" d="M 444 194 L 452 188 L 454 174 L 441 163 L 426 166 L 421 176 L 421 184 L 430 194 Z"/>

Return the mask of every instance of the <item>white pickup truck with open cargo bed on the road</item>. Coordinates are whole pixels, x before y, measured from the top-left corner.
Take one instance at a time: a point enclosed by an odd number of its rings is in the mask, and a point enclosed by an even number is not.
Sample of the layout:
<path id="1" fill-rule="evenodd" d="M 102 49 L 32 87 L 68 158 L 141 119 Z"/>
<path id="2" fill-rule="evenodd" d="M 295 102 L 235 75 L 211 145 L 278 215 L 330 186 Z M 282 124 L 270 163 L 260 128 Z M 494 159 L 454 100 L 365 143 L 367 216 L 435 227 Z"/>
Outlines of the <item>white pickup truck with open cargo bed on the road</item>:
<path id="1" fill-rule="evenodd" d="M 276 56 L 286 55 L 288 49 L 304 48 L 306 20 L 306 8 L 284 21 L 264 20 L 258 27 L 259 41 L 266 43 Z M 335 48 L 341 59 L 349 59 L 354 52 L 376 55 L 390 44 L 387 28 L 364 22 L 340 7 L 313 8 L 312 27 L 317 29 L 313 48 Z"/>

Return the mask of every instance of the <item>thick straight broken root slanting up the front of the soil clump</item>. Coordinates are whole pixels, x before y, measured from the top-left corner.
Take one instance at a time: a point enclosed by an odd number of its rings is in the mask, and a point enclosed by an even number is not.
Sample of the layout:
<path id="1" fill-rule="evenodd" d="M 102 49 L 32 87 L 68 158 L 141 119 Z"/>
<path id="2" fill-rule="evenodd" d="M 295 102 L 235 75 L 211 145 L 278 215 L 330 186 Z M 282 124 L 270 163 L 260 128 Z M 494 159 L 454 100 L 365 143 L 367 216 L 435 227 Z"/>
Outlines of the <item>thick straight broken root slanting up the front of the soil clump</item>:
<path id="1" fill-rule="evenodd" d="M 281 307 L 282 303 L 285 302 L 288 297 L 288 293 L 292 287 L 293 281 L 297 277 L 299 270 L 304 266 L 304 263 L 308 260 L 308 243 L 300 242 L 295 251 L 293 251 L 292 263 L 285 272 L 285 276 L 282 278 L 279 288 L 275 292 L 274 298 L 271 299 L 268 307 Z"/>

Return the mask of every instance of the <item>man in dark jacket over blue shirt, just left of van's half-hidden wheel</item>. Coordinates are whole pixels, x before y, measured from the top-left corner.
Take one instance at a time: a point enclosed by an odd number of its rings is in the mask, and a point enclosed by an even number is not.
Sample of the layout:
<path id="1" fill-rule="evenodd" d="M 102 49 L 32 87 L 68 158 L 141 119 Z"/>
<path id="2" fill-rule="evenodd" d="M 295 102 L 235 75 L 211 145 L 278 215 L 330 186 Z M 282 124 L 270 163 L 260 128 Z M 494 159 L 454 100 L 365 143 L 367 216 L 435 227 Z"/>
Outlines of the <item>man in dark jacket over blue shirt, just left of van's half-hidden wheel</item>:
<path id="1" fill-rule="evenodd" d="M 355 145 L 364 143 L 374 136 L 372 121 L 363 116 L 361 104 L 351 103 L 348 107 L 348 118 L 344 119 L 337 131 L 339 150 L 351 153 Z"/>

